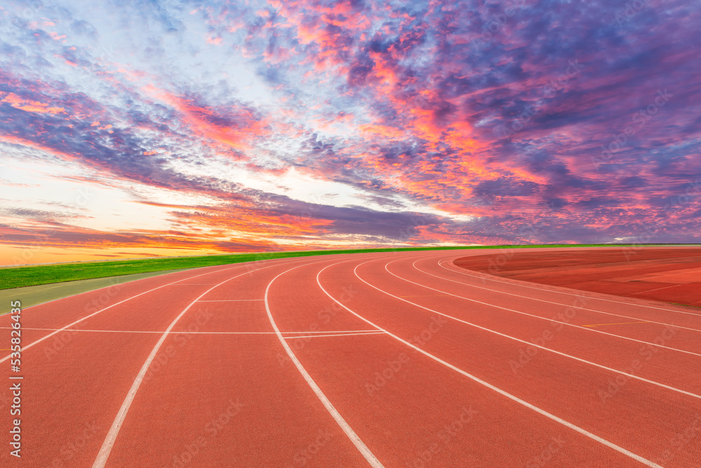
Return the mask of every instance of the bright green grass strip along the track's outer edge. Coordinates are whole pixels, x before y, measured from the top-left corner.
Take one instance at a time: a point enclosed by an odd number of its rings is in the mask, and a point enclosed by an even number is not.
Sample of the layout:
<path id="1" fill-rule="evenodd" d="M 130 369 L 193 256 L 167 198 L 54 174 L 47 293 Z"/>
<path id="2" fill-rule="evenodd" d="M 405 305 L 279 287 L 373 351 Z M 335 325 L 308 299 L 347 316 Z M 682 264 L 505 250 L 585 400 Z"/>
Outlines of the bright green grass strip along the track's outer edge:
<path id="1" fill-rule="evenodd" d="M 652 245 L 652 244 L 651 244 Z M 660 245 L 660 244 L 654 244 Z M 76 281 L 80 279 L 106 278 L 123 274 L 161 272 L 167 269 L 210 267 L 229 263 L 253 262 L 271 258 L 307 257 L 335 253 L 396 252 L 400 250 L 455 250 L 474 248 L 538 248 L 538 247 L 624 247 L 624 244 L 560 244 L 560 245 L 517 245 L 517 246 L 451 246 L 451 247 L 409 247 L 409 248 L 369 248 L 354 250 L 305 250 L 292 252 L 239 253 L 233 255 L 202 255 L 196 257 L 149 258 L 141 260 L 108 260 L 97 262 L 60 263 L 54 265 L 27 265 L 23 267 L 0 268 L 0 290 L 37 286 L 40 284 Z M 641 244 L 635 244 L 641 246 Z"/>

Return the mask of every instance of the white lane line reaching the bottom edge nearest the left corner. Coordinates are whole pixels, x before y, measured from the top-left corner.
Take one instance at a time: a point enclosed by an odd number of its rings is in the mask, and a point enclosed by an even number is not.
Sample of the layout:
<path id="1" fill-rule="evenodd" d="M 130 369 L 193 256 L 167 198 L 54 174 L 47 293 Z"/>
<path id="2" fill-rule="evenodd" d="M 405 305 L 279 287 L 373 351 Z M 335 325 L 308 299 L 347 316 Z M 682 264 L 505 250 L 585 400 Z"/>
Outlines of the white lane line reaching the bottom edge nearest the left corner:
<path id="1" fill-rule="evenodd" d="M 261 267 L 259 269 L 256 269 L 254 271 L 259 271 L 261 269 L 266 269 L 266 268 L 271 268 L 274 267 L 275 265 L 269 265 L 267 267 Z M 151 354 L 149 354 L 149 357 L 147 357 L 146 362 L 144 362 L 144 365 L 142 366 L 141 370 L 139 370 L 139 373 L 137 374 L 136 378 L 134 379 L 134 382 L 132 383 L 131 388 L 129 389 L 129 392 L 127 393 L 126 398 L 124 399 L 121 408 L 119 408 L 119 411 L 117 412 L 116 417 L 114 418 L 114 422 L 112 422 L 111 427 L 109 428 L 109 432 L 107 432 L 107 436 L 104 438 L 104 442 L 102 442 L 102 447 L 100 447 L 100 452 L 97 453 L 97 458 L 95 458 L 95 463 L 93 463 L 93 468 L 103 468 L 104 465 L 107 463 L 107 458 L 109 458 L 109 453 L 112 450 L 112 447 L 114 446 L 114 441 L 117 439 L 117 434 L 119 434 L 119 429 L 121 429 L 122 424 L 125 420 L 125 417 L 129 411 L 129 407 L 131 406 L 132 401 L 134 401 L 134 397 L 136 396 L 136 392 L 139 390 L 139 387 L 141 386 L 141 383 L 144 380 L 144 375 L 146 375 L 147 371 L 149 370 L 149 366 L 151 366 L 151 362 L 154 361 L 156 358 L 156 354 L 158 353 L 158 349 L 161 349 L 161 345 L 163 345 L 163 342 L 165 342 L 165 338 L 168 337 L 168 334 L 170 333 L 170 330 L 175 326 L 177 321 L 180 320 L 182 316 L 192 307 L 197 303 L 197 301 L 203 297 L 205 294 L 209 293 L 211 290 L 217 288 L 218 286 L 221 286 L 224 283 L 228 283 L 229 281 L 236 279 L 240 276 L 243 276 L 245 274 L 248 274 L 249 272 L 244 272 L 241 274 L 238 274 L 236 276 L 232 276 L 229 279 L 226 279 L 222 281 L 221 283 L 215 284 L 215 286 L 212 286 L 211 288 L 207 289 L 204 293 L 200 294 L 196 300 L 193 300 L 190 302 L 190 305 L 185 307 L 180 314 L 178 314 L 177 317 L 175 317 L 175 320 L 170 323 L 170 326 L 166 328 L 165 332 L 163 332 L 163 335 L 161 335 L 161 338 L 158 340 L 156 343 L 156 346 L 154 346 L 154 349 L 151 350 Z"/>

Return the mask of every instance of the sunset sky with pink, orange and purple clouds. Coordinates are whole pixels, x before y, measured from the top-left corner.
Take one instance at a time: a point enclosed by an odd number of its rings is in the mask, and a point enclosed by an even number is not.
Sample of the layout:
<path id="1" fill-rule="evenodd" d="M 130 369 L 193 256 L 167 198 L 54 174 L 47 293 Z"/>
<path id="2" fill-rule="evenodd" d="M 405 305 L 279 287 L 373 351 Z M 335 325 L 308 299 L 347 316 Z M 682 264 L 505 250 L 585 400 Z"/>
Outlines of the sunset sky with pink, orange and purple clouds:
<path id="1" fill-rule="evenodd" d="M 701 242 L 701 2 L 0 4 L 0 265 Z"/>

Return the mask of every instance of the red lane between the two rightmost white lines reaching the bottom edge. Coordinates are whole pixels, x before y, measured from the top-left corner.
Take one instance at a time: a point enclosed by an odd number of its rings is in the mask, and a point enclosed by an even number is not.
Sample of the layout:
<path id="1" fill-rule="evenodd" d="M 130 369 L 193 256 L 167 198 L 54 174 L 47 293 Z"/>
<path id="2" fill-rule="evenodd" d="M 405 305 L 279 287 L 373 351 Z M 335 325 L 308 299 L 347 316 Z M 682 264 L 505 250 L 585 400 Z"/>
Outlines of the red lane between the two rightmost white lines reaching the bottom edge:
<path id="1" fill-rule="evenodd" d="M 271 290 L 271 311 L 276 321 L 288 315 L 288 323 L 296 328 L 318 322 L 317 312 L 329 307 L 328 296 L 319 289 L 311 289 L 319 270 L 301 268 L 294 278 L 287 281 L 285 276 L 280 278 L 278 293 Z M 329 274 L 321 281 L 324 287 L 336 288 L 338 297 L 344 298 L 341 304 L 352 305 L 362 298 L 362 291 L 343 277 Z M 305 293 L 294 294 L 297 290 Z M 354 291 L 352 297 L 348 290 Z M 336 306 L 336 315 L 325 326 L 339 328 L 344 323 L 357 328 L 362 323 L 339 307 Z M 432 323 L 429 319 L 422 328 Z M 417 353 L 402 358 L 402 354 L 411 354 L 411 350 L 386 334 L 316 338 L 295 349 L 295 354 L 339 413 L 386 466 L 487 467 L 505 466 L 505 460 L 508 466 L 517 466 L 533 457 L 533 447 L 545 448 L 553 443 L 554 437 L 562 435 L 558 424 L 543 424 L 542 418 L 534 417 L 530 410 L 503 406 L 503 399 L 494 392 L 471 385 L 461 375 L 425 356 Z M 391 376 L 385 384 L 375 385 L 377 382 L 373 380 L 378 373 Z M 368 391 L 368 385 L 377 389 Z M 533 432 L 536 423 L 539 430 Z M 488 425 L 486 430 L 484 424 Z M 446 427 L 459 430 L 447 431 Z M 505 431 L 510 435 L 504 434 Z M 494 450 L 495 443 L 498 450 Z M 617 466 L 639 466 L 608 449 L 586 450 L 597 453 L 600 459 L 608 457 Z M 582 446 L 572 448 L 570 453 L 573 462 L 563 466 L 581 466 L 587 460 Z"/>

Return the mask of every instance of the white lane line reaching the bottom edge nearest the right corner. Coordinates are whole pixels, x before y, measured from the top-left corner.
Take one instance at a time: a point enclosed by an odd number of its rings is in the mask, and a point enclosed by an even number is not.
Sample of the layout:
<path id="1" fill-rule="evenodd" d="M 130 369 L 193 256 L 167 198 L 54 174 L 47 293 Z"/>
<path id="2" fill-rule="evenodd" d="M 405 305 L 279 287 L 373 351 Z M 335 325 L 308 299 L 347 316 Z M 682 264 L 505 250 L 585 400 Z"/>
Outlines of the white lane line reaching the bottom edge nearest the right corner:
<path id="1" fill-rule="evenodd" d="M 339 263 L 340 263 L 340 262 L 339 262 Z M 337 263 L 334 263 L 333 265 L 338 265 L 338 264 L 337 264 Z M 419 348 L 419 347 L 416 347 L 415 345 L 412 345 L 410 342 L 408 342 L 408 341 L 406 341 L 406 340 L 402 340 L 402 338 L 398 337 L 397 335 L 394 335 L 393 333 L 388 332 L 388 331 L 385 330 L 384 328 L 381 328 L 381 326 L 378 326 L 378 325 L 376 325 L 375 323 L 372 323 L 372 322 L 369 321 L 368 319 L 365 319 L 365 317 L 362 317 L 362 316 L 356 314 L 355 312 L 353 312 L 353 310 L 349 309 L 348 307 L 346 307 L 345 305 L 343 305 L 341 302 L 339 302 L 338 300 L 336 300 L 335 297 L 333 297 L 332 295 L 330 295 L 330 294 L 327 292 L 327 290 L 325 290 L 324 287 L 321 286 L 321 283 L 320 283 L 320 281 L 319 281 L 319 275 L 320 275 L 321 272 L 323 272 L 325 269 L 327 269 L 328 267 L 332 267 L 333 265 L 328 265 L 328 266 L 325 267 L 324 269 L 321 269 L 320 272 L 316 275 L 316 282 L 317 282 L 317 284 L 319 285 L 319 287 L 321 288 L 321 290 L 324 291 L 324 293 L 325 293 L 327 296 L 329 296 L 329 297 L 331 298 L 331 300 L 333 300 L 334 302 L 336 302 L 336 304 L 338 304 L 338 305 L 340 305 L 341 307 L 343 307 L 343 309 L 346 309 L 348 312 L 351 312 L 351 314 L 353 314 L 353 315 L 355 315 L 356 317 L 358 317 L 358 319 L 360 319 L 360 320 L 362 320 L 362 321 L 365 321 L 368 325 L 374 326 L 374 327 L 377 328 L 378 330 L 382 330 L 384 333 L 386 333 L 386 334 L 389 335 L 390 337 L 393 337 L 395 340 L 404 343 L 404 345 L 407 345 L 408 347 L 410 347 L 410 348 L 412 348 L 412 349 L 416 349 L 416 351 L 420 352 L 420 353 L 423 354 L 424 356 L 428 356 L 430 359 L 433 359 L 434 361 L 443 364 L 443 365 L 446 366 L 447 368 L 451 368 L 452 370 L 455 370 L 456 372 L 461 373 L 462 375 L 465 375 L 465 377 L 468 377 L 469 379 L 474 380 L 475 382 L 479 383 L 480 385 L 484 385 L 484 387 L 487 387 L 487 388 L 489 388 L 489 389 L 491 389 L 491 390 L 494 390 L 494 392 L 497 392 L 498 394 L 501 394 L 501 395 L 505 396 L 506 398 L 508 398 L 508 399 L 510 399 L 510 400 L 512 400 L 512 401 L 515 401 L 516 403 L 519 403 L 519 404 L 525 406 L 526 408 L 529 408 L 529 409 L 531 409 L 531 410 L 533 410 L 533 411 L 536 411 L 536 413 L 539 413 L 540 415 L 543 415 L 543 416 L 545 416 L 545 417 L 547 417 L 547 418 L 549 418 L 549 419 L 551 419 L 551 420 L 553 420 L 553 421 L 555 421 L 555 422 L 559 422 L 560 424 L 564 425 L 565 427 L 569 427 L 569 429 L 573 429 L 574 431 L 579 432 L 580 434 L 583 434 L 584 436 L 587 436 L 587 437 L 589 437 L 590 439 L 592 439 L 592 440 L 594 440 L 594 441 L 597 441 L 597 442 L 603 444 L 604 446 L 607 446 L 607 447 L 609 447 L 609 448 L 613 448 L 613 450 L 616 450 L 617 452 L 620 452 L 620 453 L 622 453 L 623 455 L 627 455 L 628 457 L 631 457 L 633 460 L 637 460 L 637 461 L 639 461 L 639 462 L 641 462 L 641 463 L 643 463 L 643 464 L 646 464 L 648 467 L 663 468 L 663 467 L 661 467 L 659 464 L 656 464 L 655 462 L 651 462 L 650 460 L 648 460 L 648 459 L 646 459 L 646 458 L 644 458 L 644 457 L 641 457 L 640 455 L 637 455 L 637 454 L 635 454 L 635 453 L 632 453 L 630 450 L 626 450 L 625 448 L 622 448 L 621 446 L 618 446 L 618 445 L 616 445 L 616 444 L 613 443 L 613 442 L 607 441 L 606 439 L 603 439 L 602 437 L 599 437 L 599 436 L 597 436 L 596 434 L 592 434 L 591 432 L 587 431 L 586 429 L 582 429 L 581 427 L 578 427 L 578 426 L 576 426 L 575 424 L 572 424 L 571 422 L 567 422 L 566 420 L 562 419 L 562 417 L 557 417 L 556 415 L 553 415 L 552 413 L 548 413 L 547 411 L 538 408 L 538 406 L 535 406 L 535 405 L 533 405 L 533 404 L 531 404 L 531 403 L 528 403 L 527 401 L 524 401 L 524 400 L 522 400 L 522 399 L 519 399 L 519 397 L 514 396 L 514 395 L 512 395 L 512 394 L 506 392 L 505 390 L 502 390 L 502 389 L 500 389 L 500 388 L 498 388 L 498 387 L 495 387 L 494 385 L 491 385 L 490 383 L 485 382 L 484 380 L 480 379 L 479 377 L 475 377 L 475 375 L 472 375 L 472 374 L 470 374 L 470 373 L 467 373 L 467 372 L 465 372 L 465 370 L 462 370 L 461 368 L 457 368 L 456 366 L 453 366 L 451 363 L 448 363 L 447 361 L 443 361 L 443 360 L 440 359 L 439 357 L 434 356 L 433 354 L 430 354 L 429 352 L 426 352 L 426 351 L 424 351 L 423 349 L 421 349 L 421 348 Z M 360 264 L 360 265 L 362 265 L 362 264 Z M 358 265 L 358 266 L 360 266 L 360 265 Z M 358 266 L 356 266 L 355 268 L 357 269 Z M 355 271 L 355 270 L 354 270 L 354 271 Z M 356 274 L 356 276 L 358 276 L 358 275 Z M 361 279 L 360 281 L 362 281 L 362 279 Z"/>

